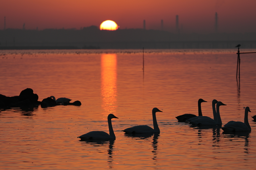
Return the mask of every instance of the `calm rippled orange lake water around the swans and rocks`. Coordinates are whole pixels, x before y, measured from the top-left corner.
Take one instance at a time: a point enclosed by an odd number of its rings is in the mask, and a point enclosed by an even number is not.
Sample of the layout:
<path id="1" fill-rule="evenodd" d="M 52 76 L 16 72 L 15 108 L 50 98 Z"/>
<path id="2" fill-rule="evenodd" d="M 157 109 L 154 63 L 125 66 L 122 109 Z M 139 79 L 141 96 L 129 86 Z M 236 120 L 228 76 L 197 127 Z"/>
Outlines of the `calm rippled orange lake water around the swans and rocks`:
<path id="1" fill-rule="evenodd" d="M 241 50 L 246 52 L 249 50 Z M 251 50 L 251 51 L 256 51 Z M 0 94 L 19 95 L 32 88 L 39 100 L 49 96 L 79 100 L 82 105 L 0 112 L 1 169 L 254 169 L 256 122 L 251 132 L 224 134 L 218 126 L 190 126 L 175 116 L 213 117 L 220 107 L 223 125 L 243 121 L 243 107 L 256 115 L 256 56 L 241 54 L 236 81 L 236 49 L 0 51 Z M 157 107 L 160 134 L 126 135 L 135 125 L 153 127 Z M 93 130 L 114 141 L 85 142 L 77 136 Z"/>

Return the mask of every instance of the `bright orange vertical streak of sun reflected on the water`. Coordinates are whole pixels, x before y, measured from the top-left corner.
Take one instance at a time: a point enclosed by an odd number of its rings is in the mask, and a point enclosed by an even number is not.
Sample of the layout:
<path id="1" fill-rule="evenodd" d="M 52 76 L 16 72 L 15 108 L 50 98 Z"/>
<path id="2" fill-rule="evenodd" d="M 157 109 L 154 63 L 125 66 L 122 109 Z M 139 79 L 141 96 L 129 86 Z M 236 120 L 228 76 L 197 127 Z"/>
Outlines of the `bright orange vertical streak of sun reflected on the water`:
<path id="1" fill-rule="evenodd" d="M 115 113 L 116 108 L 116 54 L 101 55 L 101 96 L 105 113 Z"/>

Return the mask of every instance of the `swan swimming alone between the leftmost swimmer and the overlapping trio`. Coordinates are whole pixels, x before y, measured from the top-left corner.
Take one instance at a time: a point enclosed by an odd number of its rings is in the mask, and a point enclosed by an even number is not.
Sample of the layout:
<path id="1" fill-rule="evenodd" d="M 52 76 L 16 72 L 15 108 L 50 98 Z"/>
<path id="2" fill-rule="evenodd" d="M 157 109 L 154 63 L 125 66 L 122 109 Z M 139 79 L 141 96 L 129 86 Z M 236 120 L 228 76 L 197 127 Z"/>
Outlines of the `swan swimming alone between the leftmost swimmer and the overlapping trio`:
<path id="1" fill-rule="evenodd" d="M 153 110 L 152 110 L 154 129 L 147 125 L 138 125 L 138 126 L 134 126 L 134 127 L 129 127 L 122 131 L 125 133 L 133 133 L 133 134 L 134 133 L 156 133 L 156 132 L 159 133 L 160 129 L 159 129 L 159 127 L 157 125 L 157 121 L 156 121 L 156 112 L 162 112 L 162 111 L 157 108 L 153 108 Z"/>

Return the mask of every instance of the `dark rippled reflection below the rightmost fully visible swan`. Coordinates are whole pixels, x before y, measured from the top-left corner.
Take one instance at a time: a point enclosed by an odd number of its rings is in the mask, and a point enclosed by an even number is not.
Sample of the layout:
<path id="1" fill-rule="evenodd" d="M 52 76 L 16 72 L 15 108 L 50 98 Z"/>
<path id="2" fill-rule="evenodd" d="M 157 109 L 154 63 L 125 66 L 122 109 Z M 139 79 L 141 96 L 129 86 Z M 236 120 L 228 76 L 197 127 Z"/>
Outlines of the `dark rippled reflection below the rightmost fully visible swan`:
<path id="1" fill-rule="evenodd" d="M 249 137 L 250 131 L 237 131 L 237 132 L 222 132 L 224 138 L 228 138 L 230 142 L 238 142 L 239 139 L 244 139 L 244 153 L 249 154 Z M 234 146 L 234 145 L 233 145 Z M 235 145 L 237 148 L 237 145 Z"/>

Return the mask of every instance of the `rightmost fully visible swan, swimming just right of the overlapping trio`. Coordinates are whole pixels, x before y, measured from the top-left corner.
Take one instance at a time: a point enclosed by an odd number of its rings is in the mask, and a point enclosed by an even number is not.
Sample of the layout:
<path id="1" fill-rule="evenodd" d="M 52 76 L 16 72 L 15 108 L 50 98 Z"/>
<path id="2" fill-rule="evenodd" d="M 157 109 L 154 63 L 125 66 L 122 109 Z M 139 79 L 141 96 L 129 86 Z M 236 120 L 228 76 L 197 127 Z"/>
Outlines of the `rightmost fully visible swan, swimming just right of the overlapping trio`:
<path id="1" fill-rule="evenodd" d="M 229 121 L 221 129 L 224 132 L 251 131 L 251 126 L 248 122 L 248 112 L 251 112 L 250 108 L 246 107 L 245 112 L 244 112 L 244 123 L 243 122 L 236 122 L 236 121 Z"/>

